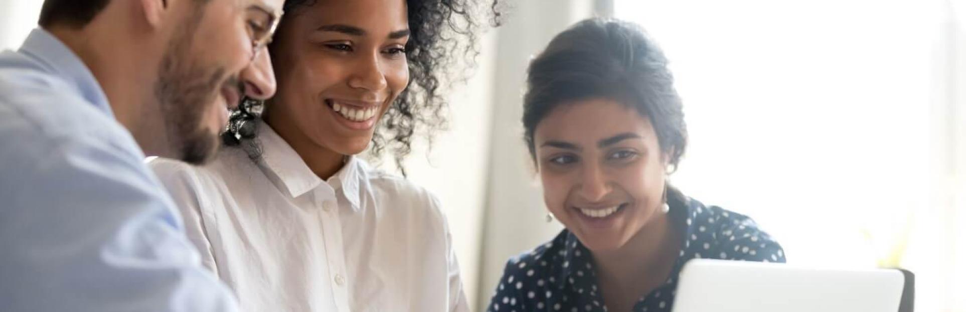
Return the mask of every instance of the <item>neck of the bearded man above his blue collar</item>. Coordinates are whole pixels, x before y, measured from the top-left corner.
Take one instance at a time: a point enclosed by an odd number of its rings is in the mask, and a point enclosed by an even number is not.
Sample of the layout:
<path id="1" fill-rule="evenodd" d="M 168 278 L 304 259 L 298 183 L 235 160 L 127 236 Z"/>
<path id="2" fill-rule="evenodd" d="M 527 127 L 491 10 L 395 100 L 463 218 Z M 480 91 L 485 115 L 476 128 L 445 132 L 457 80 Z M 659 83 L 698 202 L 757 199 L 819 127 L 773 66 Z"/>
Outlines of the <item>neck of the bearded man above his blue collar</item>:
<path id="1" fill-rule="evenodd" d="M 130 131 L 145 155 L 175 156 L 167 144 L 168 133 L 161 130 L 163 112 L 154 98 L 161 53 L 149 51 L 158 48 L 131 39 L 136 36 L 122 28 L 95 19 L 82 29 L 51 26 L 45 30 L 67 45 L 91 71 L 114 119 Z"/>

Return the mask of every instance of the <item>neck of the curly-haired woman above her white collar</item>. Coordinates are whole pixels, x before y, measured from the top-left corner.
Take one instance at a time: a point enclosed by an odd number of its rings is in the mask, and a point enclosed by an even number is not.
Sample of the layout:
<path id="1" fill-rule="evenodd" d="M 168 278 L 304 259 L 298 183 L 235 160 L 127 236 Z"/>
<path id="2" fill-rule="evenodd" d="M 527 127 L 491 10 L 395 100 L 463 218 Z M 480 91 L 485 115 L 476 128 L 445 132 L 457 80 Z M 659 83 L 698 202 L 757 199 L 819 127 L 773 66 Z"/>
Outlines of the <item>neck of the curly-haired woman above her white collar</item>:
<path id="1" fill-rule="evenodd" d="M 328 180 L 342 169 L 346 156 L 312 142 L 295 123 L 279 120 L 276 116 L 279 115 L 266 114 L 265 123 L 296 151 L 316 176 L 322 180 Z"/>

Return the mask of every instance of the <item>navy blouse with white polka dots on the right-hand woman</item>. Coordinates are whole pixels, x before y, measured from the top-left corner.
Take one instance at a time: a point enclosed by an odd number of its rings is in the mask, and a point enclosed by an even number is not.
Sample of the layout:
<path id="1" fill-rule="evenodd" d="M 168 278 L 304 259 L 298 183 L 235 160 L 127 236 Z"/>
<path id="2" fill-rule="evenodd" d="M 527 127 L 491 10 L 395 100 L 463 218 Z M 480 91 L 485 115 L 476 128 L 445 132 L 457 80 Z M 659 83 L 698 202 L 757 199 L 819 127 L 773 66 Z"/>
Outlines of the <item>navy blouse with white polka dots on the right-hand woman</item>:
<path id="1" fill-rule="evenodd" d="M 778 241 L 743 214 L 705 207 L 680 195 L 670 200 L 670 216 L 682 229 L 684 245 L 668 282 L 635 304 L 636 312 L 670 311 L 677 277 L 688 260 L 712 258 L 759 262 L 785 261 Z M 532 252 L 510 259 L 488 311 L 607 311 L 598 291 L 590 251 L 567 230 Z"/>

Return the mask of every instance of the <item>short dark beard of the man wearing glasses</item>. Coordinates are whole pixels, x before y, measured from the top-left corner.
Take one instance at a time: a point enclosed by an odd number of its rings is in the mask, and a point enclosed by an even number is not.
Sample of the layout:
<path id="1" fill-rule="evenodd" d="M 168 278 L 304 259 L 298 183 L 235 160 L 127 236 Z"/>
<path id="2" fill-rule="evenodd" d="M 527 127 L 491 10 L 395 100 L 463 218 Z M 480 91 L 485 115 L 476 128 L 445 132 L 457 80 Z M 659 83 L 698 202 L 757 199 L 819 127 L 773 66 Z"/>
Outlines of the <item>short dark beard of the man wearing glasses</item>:
<path id="1" fill-rule="evenodd" d="M 155 86 L 164 119 L 168 147 L 185 162 L 202 164 L 217 151 L 220 141 L 217 130 L 203 123 L 210 105 L 217 100 L 221 86 L 238 84 L 238 79 L 226 77 L 224 68 L 200 64 L 203 52 L 192 53 L 191 31 L 201 21 L 204 8 L 190 16 L 191 20 L 179 29 L 161 61 Z"/>

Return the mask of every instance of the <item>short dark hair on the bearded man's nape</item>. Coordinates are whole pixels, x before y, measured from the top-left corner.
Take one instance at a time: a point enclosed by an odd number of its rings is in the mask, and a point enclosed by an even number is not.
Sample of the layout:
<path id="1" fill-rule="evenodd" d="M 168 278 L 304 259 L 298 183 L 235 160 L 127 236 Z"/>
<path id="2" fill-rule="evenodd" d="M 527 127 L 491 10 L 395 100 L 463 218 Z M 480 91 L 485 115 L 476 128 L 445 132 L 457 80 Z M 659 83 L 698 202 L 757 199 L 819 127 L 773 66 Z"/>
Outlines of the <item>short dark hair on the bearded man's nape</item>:
<path id="1" fill-rule="evenodd" d="M 59 24 L 81 28 L 94 20 L 108 2 L 110 0 L 44 0 L 38 23 L 42 27 Z"/>

